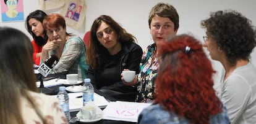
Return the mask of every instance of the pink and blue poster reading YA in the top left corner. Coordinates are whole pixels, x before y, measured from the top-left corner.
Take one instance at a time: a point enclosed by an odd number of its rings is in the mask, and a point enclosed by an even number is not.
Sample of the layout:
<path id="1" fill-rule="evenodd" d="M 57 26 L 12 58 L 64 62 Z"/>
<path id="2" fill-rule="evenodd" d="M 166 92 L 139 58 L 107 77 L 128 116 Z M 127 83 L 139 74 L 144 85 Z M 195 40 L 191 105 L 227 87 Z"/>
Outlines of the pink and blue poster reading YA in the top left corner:
<path id="1" fill-rule="evenodd" d="M 1 0 L 2 22 L 23 21 L 23 0 Z"/>

